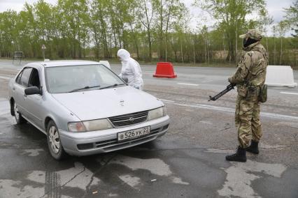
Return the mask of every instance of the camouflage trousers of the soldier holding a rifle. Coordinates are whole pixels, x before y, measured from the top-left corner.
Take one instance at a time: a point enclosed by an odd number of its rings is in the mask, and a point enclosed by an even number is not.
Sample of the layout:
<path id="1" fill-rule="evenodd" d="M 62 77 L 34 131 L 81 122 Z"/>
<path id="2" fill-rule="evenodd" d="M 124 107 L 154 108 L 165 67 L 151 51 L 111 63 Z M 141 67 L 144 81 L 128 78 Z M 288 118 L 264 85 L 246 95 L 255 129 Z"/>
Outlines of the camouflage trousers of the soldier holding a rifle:
<path id="1" fill-rule="evenodd" d="M 238 96 L 236 100 L 235 125 L 238 132 L 239 146 L 246 148 L 253 139 L 256 142 L 262 137 L 260 122 L 260 102 L 257 97 L 246 99 Z"/>

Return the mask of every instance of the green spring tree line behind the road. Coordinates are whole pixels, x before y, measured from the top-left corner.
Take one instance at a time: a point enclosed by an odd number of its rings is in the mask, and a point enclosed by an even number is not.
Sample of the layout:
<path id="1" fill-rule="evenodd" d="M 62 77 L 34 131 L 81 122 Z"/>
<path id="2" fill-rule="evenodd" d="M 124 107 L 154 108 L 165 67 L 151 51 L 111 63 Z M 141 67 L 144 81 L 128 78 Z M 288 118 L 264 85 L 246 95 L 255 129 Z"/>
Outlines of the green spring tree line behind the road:
<path id="1" fill-rule="evenodd" d="M 50 59 L 111 59 L 120 48 L 143 61 L 183 63 L 236 62 L 241 58 L 239 35 L 248 29 L 264 32 L 263 45 L 271 64 L 298 67 L 298 0 L 273 24 L 264 0 L 194 0 L 211 20 L 190 24 L 190 10 L 181 0 L 39 0 L 22 11 L 0 13 L 0 56 L 15 51 Z M 251 17 L 253 16 L 253 17 Z M 210 22 L 212 26 L 207 26 Z M 271 27 L 273 36 L 267 36 Z M 285 33 L 294 30 L 292 36 Z"/>

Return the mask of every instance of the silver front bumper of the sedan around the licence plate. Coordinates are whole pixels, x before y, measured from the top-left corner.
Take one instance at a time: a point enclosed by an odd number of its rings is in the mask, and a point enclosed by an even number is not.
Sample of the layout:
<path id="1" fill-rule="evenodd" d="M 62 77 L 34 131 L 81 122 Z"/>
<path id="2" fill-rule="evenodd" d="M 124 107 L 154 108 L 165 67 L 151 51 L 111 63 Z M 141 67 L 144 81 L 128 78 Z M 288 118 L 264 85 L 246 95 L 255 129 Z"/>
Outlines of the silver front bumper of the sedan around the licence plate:
<path id="1" fill-rule="evenodd" d="M 150 134 L 136 139 L 129 139 L 125 142 L 118 142 L 118 132 L 134 130 L 146 126 L 150 126 Z M 145 142 L 150 142 L 157 137 L 164 135 L 168 128 L 169 116 L 164 116 L 160 119 L 146 121 L 137 125 L 101 131 L 68 132 L 65 130 L 59 130 L 59 135 L 66 153 L 81 156 L 117 151 L 123 148 L 129 148 Z"/>

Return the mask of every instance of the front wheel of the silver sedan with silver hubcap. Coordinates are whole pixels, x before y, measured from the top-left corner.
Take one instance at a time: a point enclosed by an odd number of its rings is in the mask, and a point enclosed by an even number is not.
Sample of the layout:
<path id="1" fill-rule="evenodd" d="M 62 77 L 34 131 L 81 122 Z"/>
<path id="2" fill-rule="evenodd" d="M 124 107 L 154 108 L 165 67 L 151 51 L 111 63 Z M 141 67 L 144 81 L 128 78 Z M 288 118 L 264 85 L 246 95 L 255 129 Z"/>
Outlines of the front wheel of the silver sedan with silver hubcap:
<path id="1" fill-rule="evenodd" d="M 62 160 L 66 157 L 66 152 L 61 144 L 59 130 L 54 121 L 49 121 L 48 123 L 47 142 L 50 154 L 55 160 Z"/>

